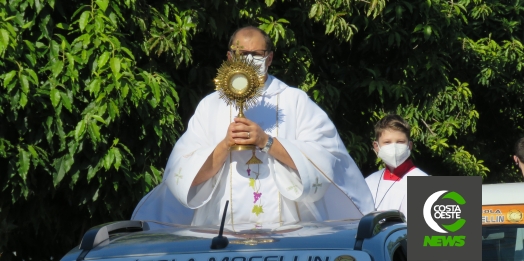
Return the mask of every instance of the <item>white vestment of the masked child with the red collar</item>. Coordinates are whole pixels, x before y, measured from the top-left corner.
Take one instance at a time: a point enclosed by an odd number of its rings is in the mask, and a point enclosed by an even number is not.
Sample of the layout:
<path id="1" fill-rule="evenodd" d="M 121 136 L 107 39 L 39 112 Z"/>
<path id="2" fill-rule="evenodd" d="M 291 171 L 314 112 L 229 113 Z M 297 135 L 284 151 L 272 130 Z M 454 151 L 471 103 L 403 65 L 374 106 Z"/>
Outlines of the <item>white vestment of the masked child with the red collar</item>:
<path id="1" fill-rule="evenodd" d="M 373 195 L 376 210 L 400 210 L 408 218 L 408 177 L 428 176 L 419 168 L 404 174 L 398 181 L 385 180 L 385 169 L 381 169 L 366 178 L 366 183 Z"/>

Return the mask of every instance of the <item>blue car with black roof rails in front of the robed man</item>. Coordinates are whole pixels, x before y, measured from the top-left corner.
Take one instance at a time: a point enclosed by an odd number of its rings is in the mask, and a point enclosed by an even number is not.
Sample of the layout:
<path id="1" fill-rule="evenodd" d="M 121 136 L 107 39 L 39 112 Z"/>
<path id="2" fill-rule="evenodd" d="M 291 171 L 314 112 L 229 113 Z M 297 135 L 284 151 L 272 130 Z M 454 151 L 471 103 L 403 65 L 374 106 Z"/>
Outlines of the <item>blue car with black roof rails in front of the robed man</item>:
<path id="1" fill-rule="evenodd" d="M 372 212 L 360 220 L 226 225 L 223 248 L 211 246 L 219 232 L 216 226 L 114 222 L 90 229 L 62 260 L 403 261 L 407 256 L 407 227 L 399 211 Z"/>

